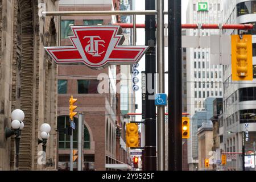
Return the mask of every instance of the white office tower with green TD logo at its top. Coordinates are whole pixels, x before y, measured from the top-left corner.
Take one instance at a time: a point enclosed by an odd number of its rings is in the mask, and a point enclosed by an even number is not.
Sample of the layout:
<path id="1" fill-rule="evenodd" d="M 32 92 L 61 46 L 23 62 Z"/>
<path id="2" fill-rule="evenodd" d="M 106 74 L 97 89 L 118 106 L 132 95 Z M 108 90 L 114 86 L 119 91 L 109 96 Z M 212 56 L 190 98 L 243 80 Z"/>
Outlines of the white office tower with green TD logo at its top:
<path id="1" fill-rule="evenodd" d="M 203 7 L 201 7 L 201 3 Z M 187 23 L 218 24 L 222 22 L 220 0 L 190 0 L 187 7 Z M 219 30 L 200 30 L 200 36 L 219 34 Z M 199 30 L 188 29 L 187 35 L 198 36 Z M 212 65 L 209 48 L 187 48 L 187 112 L 193 117 L 204 110 L 208 97 L 222 97 L 222 69 Z M 192 170 L 197 163 L 192 158 L 192 138 L 188 139 L 188 163 Z"/>

